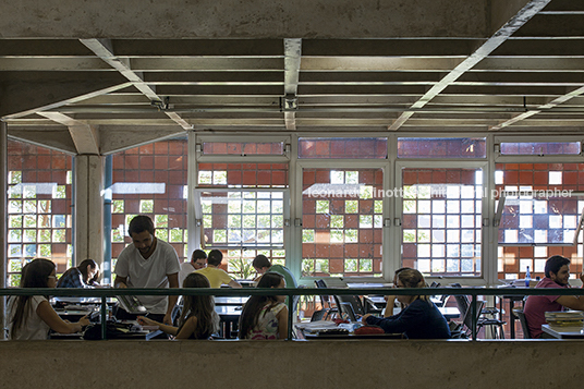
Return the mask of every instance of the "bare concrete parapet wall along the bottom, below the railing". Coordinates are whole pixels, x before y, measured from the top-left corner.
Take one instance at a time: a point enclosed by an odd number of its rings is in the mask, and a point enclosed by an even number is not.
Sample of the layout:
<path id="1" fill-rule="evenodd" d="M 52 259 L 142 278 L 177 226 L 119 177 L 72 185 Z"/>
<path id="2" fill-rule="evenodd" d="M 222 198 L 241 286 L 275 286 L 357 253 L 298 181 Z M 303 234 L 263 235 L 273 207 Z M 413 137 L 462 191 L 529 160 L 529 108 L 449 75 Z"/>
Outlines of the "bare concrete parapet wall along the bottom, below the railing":
<path id="1" fill-rule="evenodd" d="M 108 389 L 576 388 L 583 357 L 579 341 L 4 341 L 0 382 Z"/>

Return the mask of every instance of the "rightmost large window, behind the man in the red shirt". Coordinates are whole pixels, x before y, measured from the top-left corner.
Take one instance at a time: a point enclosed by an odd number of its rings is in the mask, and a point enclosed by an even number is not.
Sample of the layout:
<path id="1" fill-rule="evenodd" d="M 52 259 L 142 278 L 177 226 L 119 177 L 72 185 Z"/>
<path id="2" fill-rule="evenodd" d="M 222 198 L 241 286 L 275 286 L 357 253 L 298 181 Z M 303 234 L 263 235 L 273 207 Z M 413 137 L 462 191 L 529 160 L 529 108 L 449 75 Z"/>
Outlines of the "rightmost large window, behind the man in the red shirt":
<path id="1" fill-rule="evenodd" d="M 524 149 L 539 153 L 551 147 L 532 146 Z M 527 266 L 532 277 L 543 278 L 551 255 L 571 260 L 572 278 L 582 271 L 582 233 L 574 244 L 574 232 L 584 207 L 577 195 L 584 192 L 583 171 L 584 163 L 497 163 L 497 193 L 511 192 L 501 205 L 498 278 L 524 278 Z"/>

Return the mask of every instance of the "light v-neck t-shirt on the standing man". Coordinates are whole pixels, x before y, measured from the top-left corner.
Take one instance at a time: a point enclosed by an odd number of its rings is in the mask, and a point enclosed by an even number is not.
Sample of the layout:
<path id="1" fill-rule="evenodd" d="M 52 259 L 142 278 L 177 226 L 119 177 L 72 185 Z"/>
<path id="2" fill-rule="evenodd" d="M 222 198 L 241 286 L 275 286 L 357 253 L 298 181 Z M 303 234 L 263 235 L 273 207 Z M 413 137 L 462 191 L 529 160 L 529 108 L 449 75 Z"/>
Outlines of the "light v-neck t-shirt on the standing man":
<path id="1" fill-rule="evenodd" d="M 156 248 L 148 259 L 144 259 L 134 243 L 126 246 L 115 263 L 115 275 L 127 277 L 129 288 L 168 288 L 167 275 L 181 269 L 177 251 L 165 241 L 157 240 Z M 151 314 L 166 314 L 168 296 L 139 295 L 138 300 Z"/>

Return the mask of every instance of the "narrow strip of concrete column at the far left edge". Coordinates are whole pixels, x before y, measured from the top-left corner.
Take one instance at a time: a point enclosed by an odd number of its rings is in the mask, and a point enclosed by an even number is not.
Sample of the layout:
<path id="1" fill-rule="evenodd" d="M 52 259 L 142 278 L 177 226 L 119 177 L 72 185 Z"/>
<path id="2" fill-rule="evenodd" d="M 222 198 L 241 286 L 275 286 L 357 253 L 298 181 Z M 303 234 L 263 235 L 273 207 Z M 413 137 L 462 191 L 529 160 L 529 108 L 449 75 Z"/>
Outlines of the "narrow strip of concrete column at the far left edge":
<path id="1" fill-rule="evenodd" d="M 7 190 L 8 190 L 8 125 L 5 122 L 0 121 L 0 193 L 2 193 L 2 204 L 0 205 L 0 250 L 2 251 L 2 266 L 0 266 L 0 288 L 7 288 L 7 266 L 8 266 L 8 245 L 7 245 L 7 232 L 8 232 L 8 212 L 7 212 Z M 5 323 L 5 297 L 0 299 L 0 325 L 1 333 L 0 339 L 4 339 L 7 328 Z"/>

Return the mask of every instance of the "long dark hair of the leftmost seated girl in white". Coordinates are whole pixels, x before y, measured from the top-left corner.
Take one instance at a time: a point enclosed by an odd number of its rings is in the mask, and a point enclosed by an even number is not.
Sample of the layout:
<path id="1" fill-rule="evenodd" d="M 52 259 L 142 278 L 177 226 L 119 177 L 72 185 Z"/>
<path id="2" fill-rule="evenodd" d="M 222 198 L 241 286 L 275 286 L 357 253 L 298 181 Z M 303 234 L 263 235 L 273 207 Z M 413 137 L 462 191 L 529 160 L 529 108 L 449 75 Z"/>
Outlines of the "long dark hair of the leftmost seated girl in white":
<path id="1" fill-rule="evenodd" d="M 20 287 L 49 288 L 49 276 L 56 270 L 56 265 L 49 259 L 33 259 L 22 268 Z M 14 315 L 12 316 L 12 327 L 10 328 L 11 338 L 14 338 L 15 332 L 26 321 L 26 303 L 31 300 L 31 295 L 14 296 Z"/>

